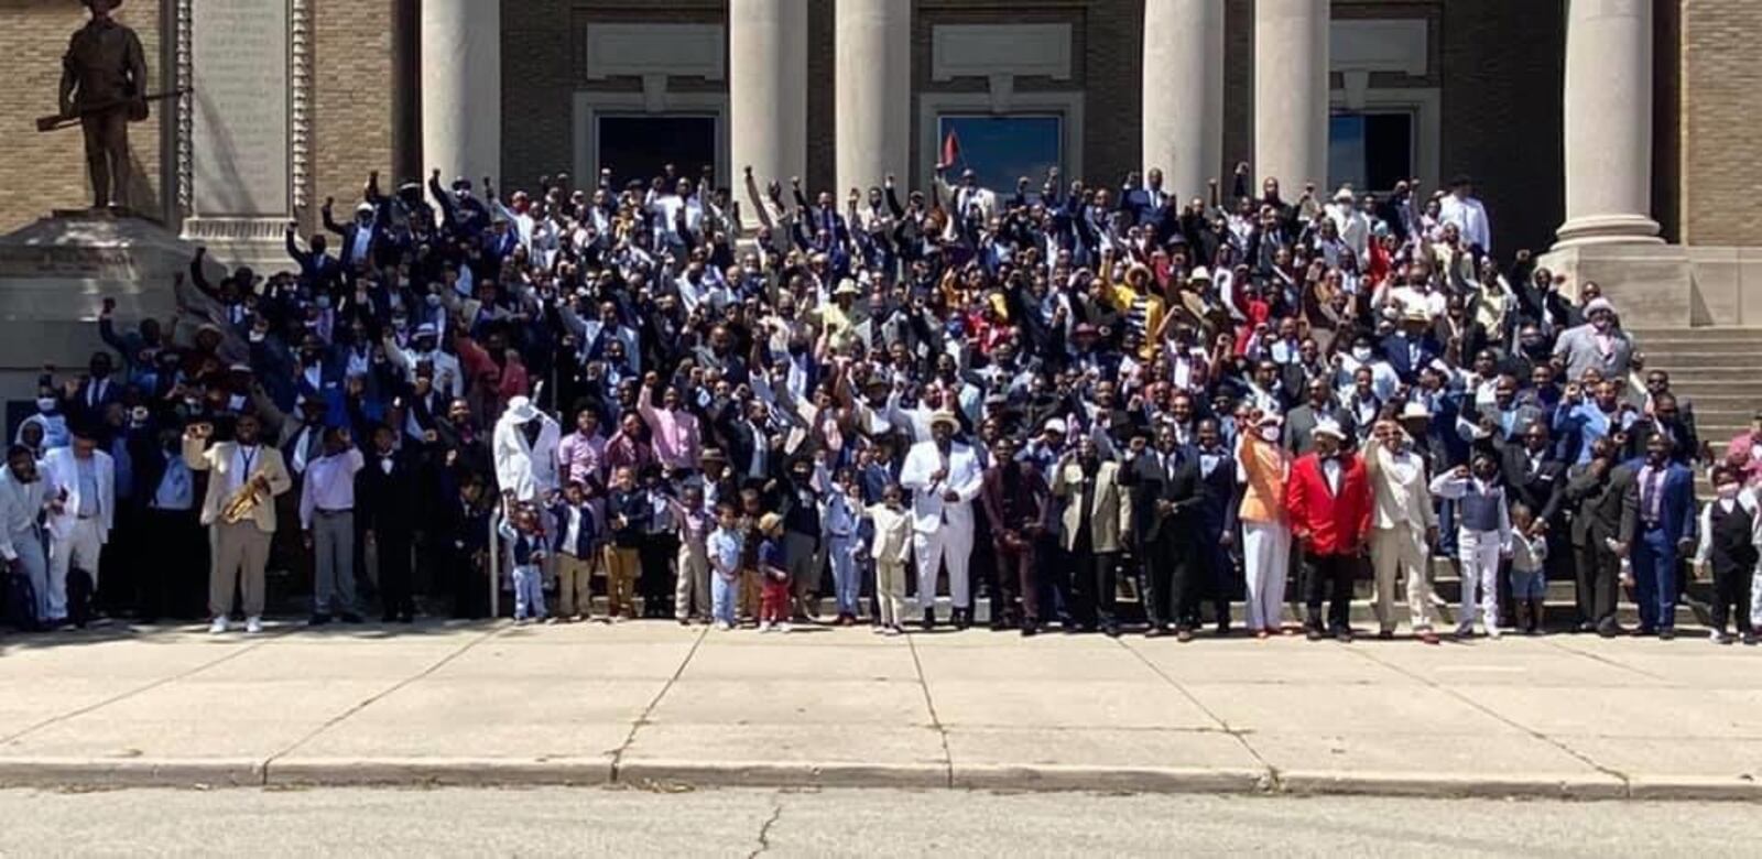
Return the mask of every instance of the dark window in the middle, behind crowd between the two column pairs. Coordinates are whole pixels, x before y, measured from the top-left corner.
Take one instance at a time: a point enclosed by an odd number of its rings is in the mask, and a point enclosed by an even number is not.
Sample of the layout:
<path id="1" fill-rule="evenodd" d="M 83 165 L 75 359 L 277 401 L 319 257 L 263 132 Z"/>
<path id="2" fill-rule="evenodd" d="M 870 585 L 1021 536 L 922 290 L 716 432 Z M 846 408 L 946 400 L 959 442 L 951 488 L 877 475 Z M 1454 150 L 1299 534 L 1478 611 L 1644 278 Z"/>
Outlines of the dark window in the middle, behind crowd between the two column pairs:
<path id="1" fill-rule="evenodd" d="M 960 114 L 937 116 L 937 162 L 950 162 L 959 174 L 971 169 L 980 187 L 999 194 L 1015 190 L 1027 176 L 1033 194 L 1047 180 L 1048 167 L 1064 173 L 1064 116 L 1061 114 Z M 955 176 L 948 178 L 950 181 Z"/>

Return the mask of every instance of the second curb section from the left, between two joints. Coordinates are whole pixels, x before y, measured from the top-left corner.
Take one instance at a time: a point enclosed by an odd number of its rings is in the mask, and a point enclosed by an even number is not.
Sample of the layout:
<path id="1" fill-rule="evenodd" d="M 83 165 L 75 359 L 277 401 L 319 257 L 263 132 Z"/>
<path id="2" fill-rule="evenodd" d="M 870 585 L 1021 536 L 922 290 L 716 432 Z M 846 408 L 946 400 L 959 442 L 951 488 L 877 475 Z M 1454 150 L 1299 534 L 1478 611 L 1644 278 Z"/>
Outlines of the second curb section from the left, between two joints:
<path id="1" fill-rule="evenodd" d="M 266 785 L 604 785 L 611 755 L 552 760 L 495 759 L 319 759 L 271 760 Z"/>

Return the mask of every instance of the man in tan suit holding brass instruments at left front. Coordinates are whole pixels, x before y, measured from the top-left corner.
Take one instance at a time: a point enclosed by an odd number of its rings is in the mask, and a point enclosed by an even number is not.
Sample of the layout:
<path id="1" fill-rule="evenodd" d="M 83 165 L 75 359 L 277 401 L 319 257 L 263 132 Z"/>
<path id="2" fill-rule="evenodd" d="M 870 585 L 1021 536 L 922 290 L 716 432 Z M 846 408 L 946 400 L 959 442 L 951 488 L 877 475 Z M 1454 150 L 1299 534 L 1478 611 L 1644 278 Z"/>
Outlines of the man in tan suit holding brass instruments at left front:
<path id="1" fill-rule="evenodd" d="M 259 444 L 263 426 L 257 415 L 243 414 L 233 442 L 208 445 L 210 424 L 190 424 L 183 431 L 183 463 L 194 472 L 208 472 L 208 496 L 203 498 L 203 525 L 213 567 L 208 570 L 208 632 L 226 632 L 233 611 L 234 581 L 243 590 L 245 632 L 263 632 L 263 567 L 270 562 L 270 537 L 275 535 L 275 496 L 294 486 L 282 452 Z M 226 521 L 229 503 L 252 493 L 259 503 L 236 523 Z"/>

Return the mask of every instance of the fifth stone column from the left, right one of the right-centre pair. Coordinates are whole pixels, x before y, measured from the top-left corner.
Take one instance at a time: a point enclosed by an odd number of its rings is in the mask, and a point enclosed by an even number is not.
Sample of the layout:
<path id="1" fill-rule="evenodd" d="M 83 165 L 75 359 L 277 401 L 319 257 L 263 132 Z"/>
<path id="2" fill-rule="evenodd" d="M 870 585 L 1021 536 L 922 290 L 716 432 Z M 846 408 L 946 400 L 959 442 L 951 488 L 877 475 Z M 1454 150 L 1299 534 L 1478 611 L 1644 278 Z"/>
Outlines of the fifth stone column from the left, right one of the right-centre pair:
<path id="1" fill-rule="evenodd" d="M 1255 173 L 1286 201 L 1327 183 L 1327 55 L 1329 0 L 1255 0 Z"/>

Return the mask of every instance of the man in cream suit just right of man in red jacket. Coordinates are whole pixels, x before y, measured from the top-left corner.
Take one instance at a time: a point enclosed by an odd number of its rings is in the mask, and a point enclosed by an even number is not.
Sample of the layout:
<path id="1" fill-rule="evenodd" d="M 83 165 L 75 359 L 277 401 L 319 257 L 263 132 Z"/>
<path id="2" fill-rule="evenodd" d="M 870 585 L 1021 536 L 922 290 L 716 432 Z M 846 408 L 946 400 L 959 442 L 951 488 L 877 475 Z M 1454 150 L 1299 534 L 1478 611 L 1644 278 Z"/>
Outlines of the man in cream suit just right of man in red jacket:
<path id="1" fill-rule="evenodd" d="M 1403 419 L 1418 417 L 1425 407 L 1408 403 Z M 1438 514 L 1427 489 L 1425 458 L 1413 451 L 1408 433 L 1394 421 L 1378 421 L 1364 444 L 1364 470 L 1371 479 L 1371 567 L 1376 570 L 1378 637 L 1396 635 L 1396 574 L 1408 581 L 1408 613 L 1413 634 L 1427 644 L 1433 632 L 1431 583 L 1425 567 L 1438 539 Z"/>

